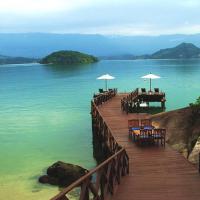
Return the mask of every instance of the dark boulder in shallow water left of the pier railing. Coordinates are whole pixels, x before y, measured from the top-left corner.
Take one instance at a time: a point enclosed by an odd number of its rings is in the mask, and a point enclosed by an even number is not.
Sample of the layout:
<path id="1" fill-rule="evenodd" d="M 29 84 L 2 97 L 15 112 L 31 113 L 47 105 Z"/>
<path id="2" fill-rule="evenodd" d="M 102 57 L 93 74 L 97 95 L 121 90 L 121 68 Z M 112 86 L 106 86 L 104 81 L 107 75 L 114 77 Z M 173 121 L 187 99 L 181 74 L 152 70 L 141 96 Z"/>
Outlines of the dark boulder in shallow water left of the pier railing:
<path id="1" fill-rule="evenodd" d="M 47 169 L 47 175 L 41 176 L 39 182 L 67 187 L 87 172 L 88 170 L 78 165 L 58 161 Z"/>

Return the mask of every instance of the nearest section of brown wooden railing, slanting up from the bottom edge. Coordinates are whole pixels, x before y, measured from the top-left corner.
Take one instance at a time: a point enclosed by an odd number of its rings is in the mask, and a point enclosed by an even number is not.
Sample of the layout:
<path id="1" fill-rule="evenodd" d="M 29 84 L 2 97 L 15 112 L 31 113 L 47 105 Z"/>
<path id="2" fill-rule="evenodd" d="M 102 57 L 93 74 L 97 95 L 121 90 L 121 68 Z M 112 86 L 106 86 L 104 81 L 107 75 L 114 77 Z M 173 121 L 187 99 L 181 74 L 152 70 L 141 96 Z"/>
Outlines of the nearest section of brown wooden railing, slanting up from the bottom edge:
<path id="1" fill-rule="evenodd" d="M 104 200 L 114 194 L 121 177 L 127 173 L 128 158 L 125 149 L 121 149 L 51 200 L 68 200 L 66 194 L 75 187 L 81 187 L 80 200 Z"/>

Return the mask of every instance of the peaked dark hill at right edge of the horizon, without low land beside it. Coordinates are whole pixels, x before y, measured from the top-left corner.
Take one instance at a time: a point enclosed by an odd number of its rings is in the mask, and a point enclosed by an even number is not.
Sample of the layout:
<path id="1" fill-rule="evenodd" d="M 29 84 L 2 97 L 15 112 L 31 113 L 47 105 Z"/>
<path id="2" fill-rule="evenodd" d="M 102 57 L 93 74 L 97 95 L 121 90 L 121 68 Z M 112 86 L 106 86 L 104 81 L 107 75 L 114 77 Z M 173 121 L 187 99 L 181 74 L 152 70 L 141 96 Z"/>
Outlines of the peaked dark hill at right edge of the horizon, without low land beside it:
<path id="1" fill-rule="evenodd" d="M 200 58 L 200 48 L 191 43 L 181 43 L 174 48 L 161 49 L 151 55 L 153 59 Z"/>

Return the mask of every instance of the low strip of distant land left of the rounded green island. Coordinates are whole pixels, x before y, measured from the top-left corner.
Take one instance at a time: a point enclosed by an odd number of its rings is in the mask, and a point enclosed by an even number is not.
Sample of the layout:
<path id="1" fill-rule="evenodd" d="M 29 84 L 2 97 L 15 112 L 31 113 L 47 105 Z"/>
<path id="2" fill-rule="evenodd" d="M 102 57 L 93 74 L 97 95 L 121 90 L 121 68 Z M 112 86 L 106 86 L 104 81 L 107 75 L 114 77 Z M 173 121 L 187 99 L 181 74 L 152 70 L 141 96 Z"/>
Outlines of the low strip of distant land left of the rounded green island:
<path id="1" fill-rule="evenodd" d="M 38 59 L 35 58 L 25 58 L 25 57 L 10 57 L 0 55 L 0 65 L 3 64 L 25 64 L 25 63 L 34 63 L 38 62 Z"/>

